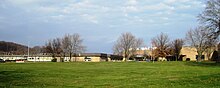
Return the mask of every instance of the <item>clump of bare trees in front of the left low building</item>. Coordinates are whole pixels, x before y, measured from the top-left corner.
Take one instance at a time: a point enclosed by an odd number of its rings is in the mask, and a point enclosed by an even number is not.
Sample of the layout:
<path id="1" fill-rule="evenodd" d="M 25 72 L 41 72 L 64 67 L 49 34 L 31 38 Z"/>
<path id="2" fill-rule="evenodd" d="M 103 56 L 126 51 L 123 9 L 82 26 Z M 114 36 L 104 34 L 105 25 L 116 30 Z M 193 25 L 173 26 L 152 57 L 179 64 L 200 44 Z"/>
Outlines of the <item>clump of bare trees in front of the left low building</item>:
<path id="1" fill-rule="evenodd" d="M 46 42 L 44 49 L 46 53 L 51 53 L 54 58 L 69 56 L 70 60 L 73 61 L 72 57 L 85 52 L 86 47 L 82 43 L 83 39 L 78 33 L 66 34 L 62 38 L 55 38 Z"/>

